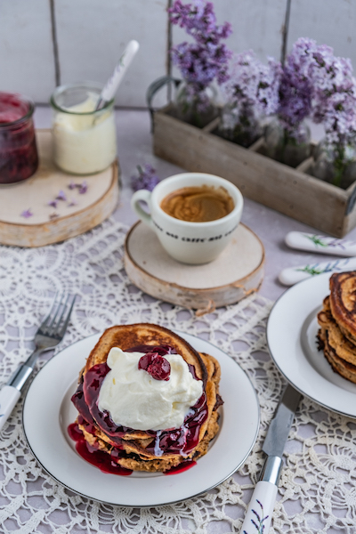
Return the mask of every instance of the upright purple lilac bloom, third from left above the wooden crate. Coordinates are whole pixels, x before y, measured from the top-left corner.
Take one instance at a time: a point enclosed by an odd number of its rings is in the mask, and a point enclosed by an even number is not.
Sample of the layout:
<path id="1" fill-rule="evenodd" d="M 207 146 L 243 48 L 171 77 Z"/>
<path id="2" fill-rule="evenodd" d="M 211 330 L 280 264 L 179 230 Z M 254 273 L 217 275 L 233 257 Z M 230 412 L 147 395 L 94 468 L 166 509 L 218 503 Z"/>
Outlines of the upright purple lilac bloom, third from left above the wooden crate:
<path id="1" fill-rule="evenodd" d="M 287 55 L 279 86 L 279 119 L 287 133 L 298 139 L 299 128 L 312 111 L 312 65 L 317 45 L 312 39 L 299 38 Z"/>

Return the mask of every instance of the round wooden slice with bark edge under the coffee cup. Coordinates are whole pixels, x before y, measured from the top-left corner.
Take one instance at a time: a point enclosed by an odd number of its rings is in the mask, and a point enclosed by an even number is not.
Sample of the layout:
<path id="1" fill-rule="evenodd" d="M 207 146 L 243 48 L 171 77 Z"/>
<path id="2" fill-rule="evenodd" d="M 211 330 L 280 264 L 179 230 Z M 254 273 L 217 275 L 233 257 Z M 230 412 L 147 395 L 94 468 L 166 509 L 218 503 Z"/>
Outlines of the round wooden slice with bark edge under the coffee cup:
<path id="1" fill-rule="evenodd" d="M 140 221 L 125 239 L 125 270 L 134 285 L 168 303 L 197 310 L 197 315 L 238 303 L 257 291 L 263 263 L 262 242 L 242 223 L 223 253 L 204 265 L 175 261 L 155 232 Z"/>

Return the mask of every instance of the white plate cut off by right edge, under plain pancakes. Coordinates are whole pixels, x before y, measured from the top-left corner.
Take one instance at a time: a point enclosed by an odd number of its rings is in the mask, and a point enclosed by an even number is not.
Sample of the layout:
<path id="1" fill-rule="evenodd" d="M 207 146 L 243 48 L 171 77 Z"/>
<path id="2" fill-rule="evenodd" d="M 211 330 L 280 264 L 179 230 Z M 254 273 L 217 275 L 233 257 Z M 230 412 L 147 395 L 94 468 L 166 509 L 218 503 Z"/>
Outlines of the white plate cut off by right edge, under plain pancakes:
<path id="1" fill-rule="evenodd" d="M 325 408 L 356 417 L 356 384 L 333 371 L 318 350 L 317 313 L 329 295 L 331 274 L 305 279 L 279 297 L 267 324 L 274 363 L 295 389 Z"/>

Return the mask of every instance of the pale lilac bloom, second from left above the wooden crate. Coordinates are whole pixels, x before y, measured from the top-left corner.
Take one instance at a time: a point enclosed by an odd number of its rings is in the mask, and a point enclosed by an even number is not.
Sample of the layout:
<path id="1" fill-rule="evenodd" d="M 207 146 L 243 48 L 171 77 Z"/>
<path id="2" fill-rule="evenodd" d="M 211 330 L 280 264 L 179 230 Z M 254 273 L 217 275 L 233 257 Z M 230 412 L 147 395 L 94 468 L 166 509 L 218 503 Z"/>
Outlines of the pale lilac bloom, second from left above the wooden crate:
<path id="1" fill-rule="evenodd" d="M 229 103 L 241 109 L 253 109 L 260 115 L 271 115 L 279 107 L 279 61 L 268 58 L 268 65 L 258 61 L 252 50 L 239 53 L 232 64 L 231 78 L 225 86 Z M 252 111 L 251 111 L 252 112 Z"/>

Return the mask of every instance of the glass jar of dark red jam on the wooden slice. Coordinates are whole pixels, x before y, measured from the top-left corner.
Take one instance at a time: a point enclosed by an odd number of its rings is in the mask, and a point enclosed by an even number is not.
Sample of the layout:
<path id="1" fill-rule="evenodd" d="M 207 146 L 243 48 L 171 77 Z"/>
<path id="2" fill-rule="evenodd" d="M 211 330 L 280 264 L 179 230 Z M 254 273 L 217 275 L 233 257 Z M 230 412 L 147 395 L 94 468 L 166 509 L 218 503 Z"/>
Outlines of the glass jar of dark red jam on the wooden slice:
<path id="1" fill-rule="evenodd" d="M 0 185 L 21 182 L 36 172 L 34 109 L 24 96 L 0 92 Z"/>

